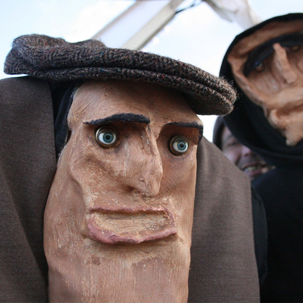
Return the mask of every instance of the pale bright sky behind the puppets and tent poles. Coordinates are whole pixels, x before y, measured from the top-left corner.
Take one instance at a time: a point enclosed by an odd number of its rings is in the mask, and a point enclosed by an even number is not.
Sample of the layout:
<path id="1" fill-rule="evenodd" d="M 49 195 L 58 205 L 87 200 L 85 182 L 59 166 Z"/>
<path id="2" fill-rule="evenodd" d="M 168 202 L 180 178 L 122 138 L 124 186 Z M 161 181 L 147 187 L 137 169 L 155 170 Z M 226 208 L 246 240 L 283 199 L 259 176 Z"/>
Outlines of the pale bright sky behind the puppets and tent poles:
<path id="1" fill-rule="evenodd" d="M 181 7 L 190 5 L 188 0 Z M 1 0 L 0 79 L 13 39 L 23 34 L 46 34 L 75 42 L 90 38 L 133 3 L 132 0 Z M 250 0 L 262 20 L 303 12 L 302 0 Z M 242 32 L 236 23 L 221 19 L 206 3 L 177 14 L 144 51 L 196 65 L 218 75 L 233 38 Z M 111 46 L 111 45 L 108 45 Z M 203 116 L 211 140 L 214 116 Z"/>

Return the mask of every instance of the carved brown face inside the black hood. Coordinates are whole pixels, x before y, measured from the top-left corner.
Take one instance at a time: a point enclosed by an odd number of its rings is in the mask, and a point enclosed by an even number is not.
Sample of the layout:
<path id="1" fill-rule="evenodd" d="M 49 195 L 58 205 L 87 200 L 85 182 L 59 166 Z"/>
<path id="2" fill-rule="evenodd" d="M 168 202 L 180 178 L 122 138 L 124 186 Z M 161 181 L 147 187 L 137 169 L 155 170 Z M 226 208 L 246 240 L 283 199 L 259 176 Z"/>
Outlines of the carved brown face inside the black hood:
<path id="1" fill-rule="evenodd" d="M 241 39 L 228 56 L 237 84 L 263 107 L 287 145 L 303 138 L 303 20 L 272 22 Z"/>

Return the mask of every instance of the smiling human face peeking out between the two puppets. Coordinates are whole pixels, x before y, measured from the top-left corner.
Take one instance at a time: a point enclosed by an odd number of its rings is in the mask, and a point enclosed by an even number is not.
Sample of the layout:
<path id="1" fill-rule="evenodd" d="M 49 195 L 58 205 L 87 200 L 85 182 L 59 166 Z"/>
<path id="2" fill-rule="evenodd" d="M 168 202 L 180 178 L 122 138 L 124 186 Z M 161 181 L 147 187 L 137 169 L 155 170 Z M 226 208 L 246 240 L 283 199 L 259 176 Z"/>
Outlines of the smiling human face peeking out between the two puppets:
<path id="1" fill-rule="evenodd" d="M 222 131 L 221 146 L 223 154 L 243 171 L 250 181 L 272 169 L 260 156 L 241 144 L 226 126 Z"/>

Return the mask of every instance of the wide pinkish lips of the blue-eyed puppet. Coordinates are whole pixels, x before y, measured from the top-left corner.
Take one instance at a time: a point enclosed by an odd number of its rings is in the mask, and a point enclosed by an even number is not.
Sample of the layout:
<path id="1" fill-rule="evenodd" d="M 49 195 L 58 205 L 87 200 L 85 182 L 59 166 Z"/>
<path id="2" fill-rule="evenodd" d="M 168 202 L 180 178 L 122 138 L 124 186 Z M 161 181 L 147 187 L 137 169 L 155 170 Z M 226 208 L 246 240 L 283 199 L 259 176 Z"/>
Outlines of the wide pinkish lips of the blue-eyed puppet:
<path id="1" fill-rule="evenodd" d="M 91 209 L 87 228 L 92 240 L 104 244 L 137 244 L 177 233 L 166 209 Z"/>

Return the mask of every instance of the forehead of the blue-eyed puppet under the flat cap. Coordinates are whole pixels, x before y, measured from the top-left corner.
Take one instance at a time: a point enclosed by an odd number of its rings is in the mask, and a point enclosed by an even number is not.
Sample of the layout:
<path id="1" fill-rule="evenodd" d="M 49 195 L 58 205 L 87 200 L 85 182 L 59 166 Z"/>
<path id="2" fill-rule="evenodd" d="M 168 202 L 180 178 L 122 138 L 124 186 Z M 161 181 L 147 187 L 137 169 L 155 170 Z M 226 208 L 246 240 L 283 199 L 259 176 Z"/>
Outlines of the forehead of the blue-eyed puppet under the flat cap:
<path id="1" fill-rule="evenodd" d="M 153 83 L 119 80 L 83 83 L 74 95 L 68 122 L 94 123 L 107 121 L 109 117 L 136 122 L 140 116 L 150 124 L 195 122 L 202 125 L 177 90 Z"/>

